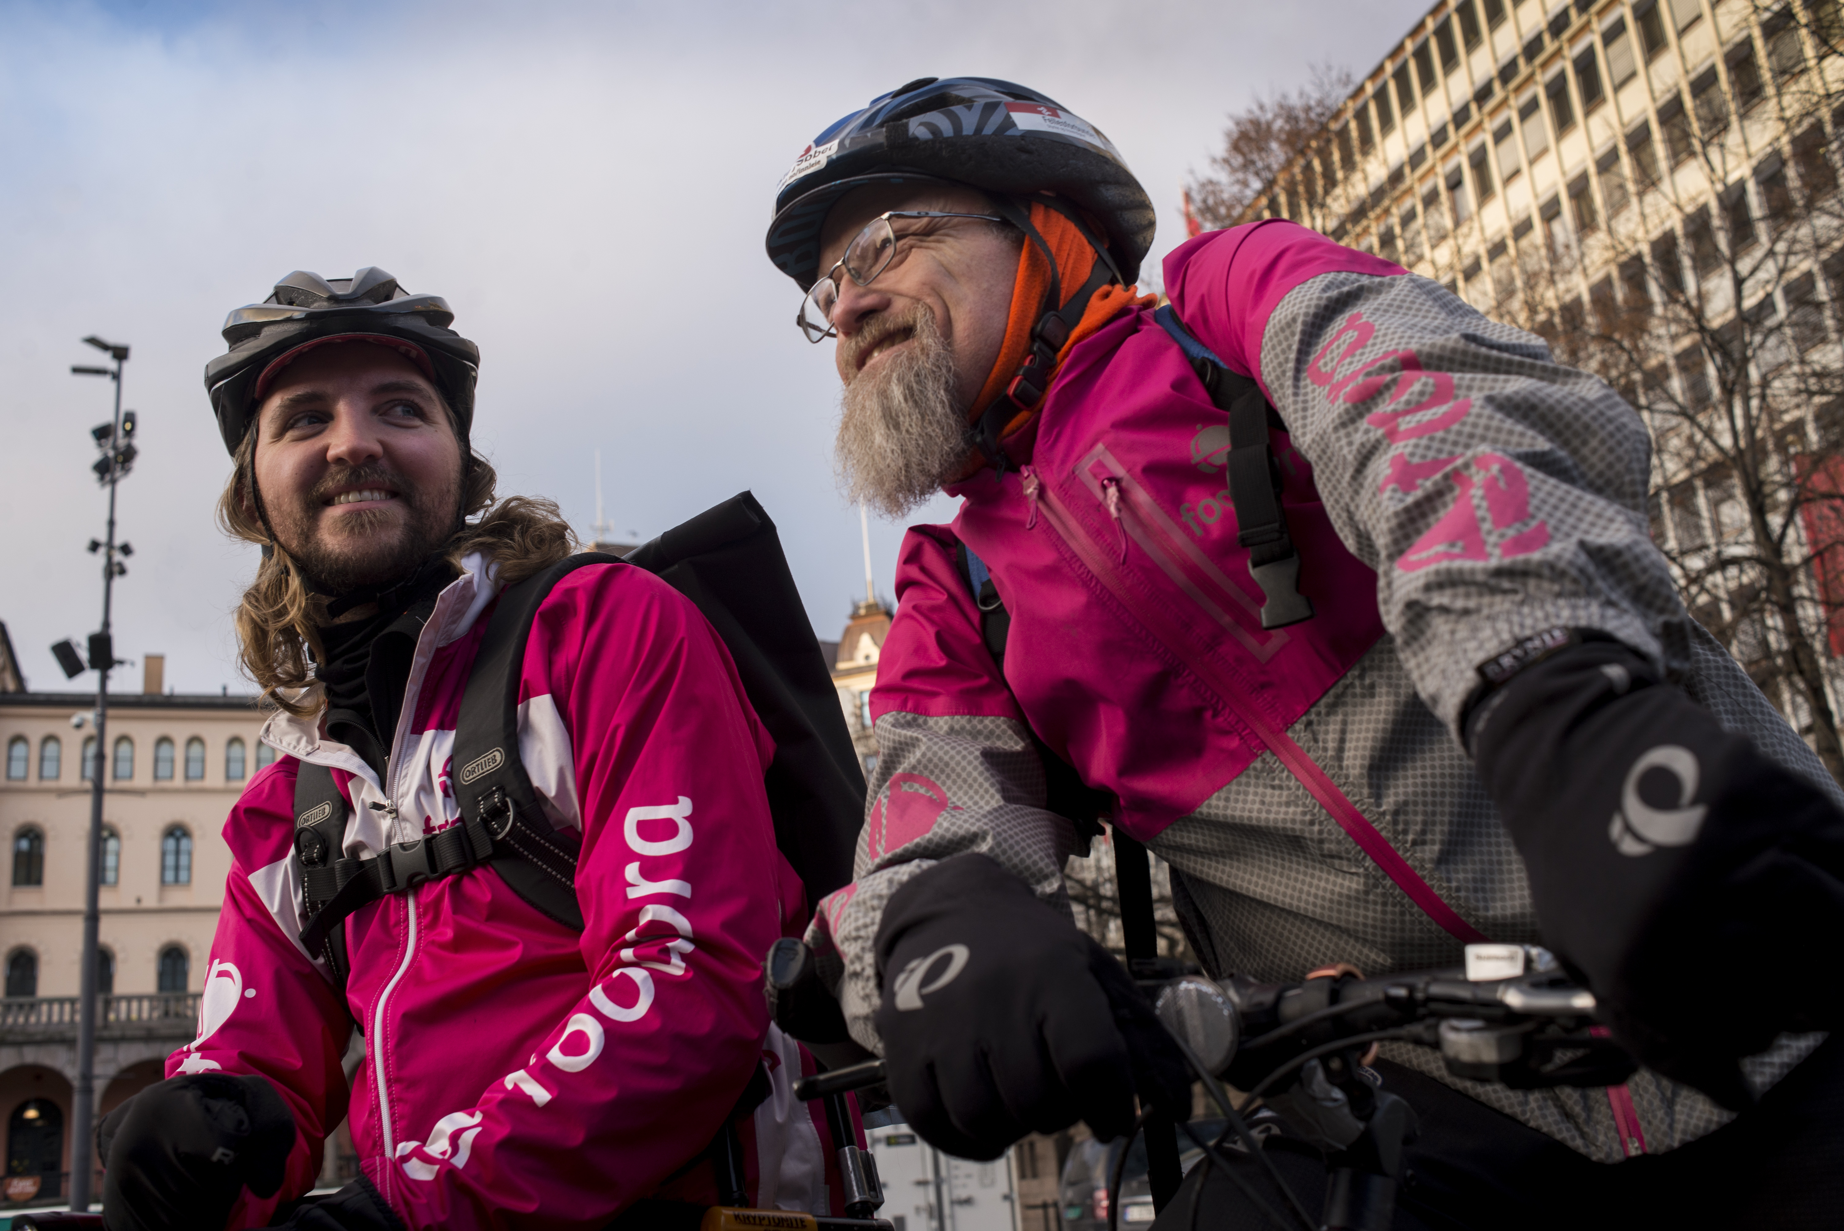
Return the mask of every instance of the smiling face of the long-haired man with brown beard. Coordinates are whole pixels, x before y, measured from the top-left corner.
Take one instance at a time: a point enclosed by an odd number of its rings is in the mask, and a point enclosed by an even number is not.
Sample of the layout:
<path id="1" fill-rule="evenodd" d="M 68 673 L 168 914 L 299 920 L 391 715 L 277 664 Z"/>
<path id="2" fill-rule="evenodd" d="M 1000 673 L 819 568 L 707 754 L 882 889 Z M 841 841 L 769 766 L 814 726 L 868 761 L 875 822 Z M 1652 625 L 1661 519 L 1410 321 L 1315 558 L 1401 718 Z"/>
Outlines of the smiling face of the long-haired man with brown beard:
<path id="1" fill-rule="evenodd" d="M 395 350 L 354 341 L 301 356 L 256 431 L 269 525 L 321 592 L 395 580 L 454 533 L 461 442 L 435 385 Z"/>

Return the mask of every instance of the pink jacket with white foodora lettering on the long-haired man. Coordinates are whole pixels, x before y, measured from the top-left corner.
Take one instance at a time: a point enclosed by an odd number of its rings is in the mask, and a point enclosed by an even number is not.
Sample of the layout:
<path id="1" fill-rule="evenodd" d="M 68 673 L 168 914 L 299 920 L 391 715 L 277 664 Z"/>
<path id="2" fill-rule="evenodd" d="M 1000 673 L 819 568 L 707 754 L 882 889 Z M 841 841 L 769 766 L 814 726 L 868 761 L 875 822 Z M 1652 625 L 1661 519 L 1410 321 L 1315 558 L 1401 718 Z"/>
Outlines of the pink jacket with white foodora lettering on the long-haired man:
<path id="1" fill-rule="evenodd" d="M 653 575 L 570 573 L 526 649 L 520 756 L 550 820 L 581 837 L 585 931 L 487 866 L 349 918 L 343 999 L 302 949 L 299 761 L 332 767 L 356 805 L 347 855 L 455 824 L 455 713 L 494 593 L 470 560 L 437 599 L 387 783 L 317 721 L 264 728 L 284 756 L 225 824 L 234 862 L 199 1038 L 166 1067 L 262 1074 L 295 1113 L 282 1192 L 245 1192 L 230 1225 L 266 1225 L 306 1192 L 349 1113 L 363 1174 L 409 1227 L 601 1227 L 649 1194 L 714 1202 L 697 1161 L 758 1065 L 773 1095 L 741 1130 L 751 1196 L 826 1213 L 826 1126 L 791 1098 L 802 1052 L 762 997 L 762 955 L 806 921 L 762 785 L 773 744 L 717 634 Z M 354 1023 L 365 1061 L 349 1106 Z"/>

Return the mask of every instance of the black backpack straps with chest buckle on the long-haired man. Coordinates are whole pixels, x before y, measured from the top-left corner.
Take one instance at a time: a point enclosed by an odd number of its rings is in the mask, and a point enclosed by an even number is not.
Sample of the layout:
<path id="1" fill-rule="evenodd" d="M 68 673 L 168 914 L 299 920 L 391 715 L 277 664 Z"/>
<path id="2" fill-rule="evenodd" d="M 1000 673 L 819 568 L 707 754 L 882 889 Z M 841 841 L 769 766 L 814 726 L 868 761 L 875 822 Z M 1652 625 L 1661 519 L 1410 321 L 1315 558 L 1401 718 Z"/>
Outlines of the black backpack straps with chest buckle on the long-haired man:
<path id="1" fill-rule="evenodd" d="M 302 905 L 308 914 L 301 944 L 310 953 L 321 953 L 330 944 L 343 949 L 339 923 L 385 894 L 402 894 L 424 881 L 459 875 L 483 862 L 492 862 L 500 879 L 537 910 L 583 931 L 583 909 L 575 897 L 577 842 L 546 820 L 518 757 L 518 680 L 531 621 L 551 588 L 585 564 L 618 562 L 609 555 L 575 555 L 500 593 L 455 721 L 457 824 L 426 838 L 395 842 L 374 859 L 347 859 L 339 855 L 345 800 L 337 791 L 332 800 L 301 796 L 301 781 L 321 776 L 330 789 L 332 772 L 312 767 L 313 774 L 297 780 L 295 859 L 302 866 Z M 304 802 L 308 807 L 302 807 Z M 330 833 L 302 824 L 304 816 L 317 816 L 313 826 L 330 824 L 319 815 L 323 803 L 330 803 L 328 816 L 337 816 L 337 827 Z M 343 960 L 336 973 L 343 982 Z"/>

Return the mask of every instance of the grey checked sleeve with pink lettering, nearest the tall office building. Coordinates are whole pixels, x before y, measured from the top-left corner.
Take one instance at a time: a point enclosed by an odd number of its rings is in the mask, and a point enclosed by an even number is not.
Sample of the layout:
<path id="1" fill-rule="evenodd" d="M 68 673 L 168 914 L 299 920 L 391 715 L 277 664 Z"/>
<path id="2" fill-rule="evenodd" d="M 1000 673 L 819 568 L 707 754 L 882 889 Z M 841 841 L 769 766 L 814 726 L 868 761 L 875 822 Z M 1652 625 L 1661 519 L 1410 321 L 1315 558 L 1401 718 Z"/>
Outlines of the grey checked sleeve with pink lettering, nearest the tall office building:
<path id="1" fill-rule="evenodd" d="M 1660 665 L 1684 643 L 1647 531 L 1645 426 L 1540 337 L 1416 275 L 1326 273 L 1269 317 L 1261 378 L 1449 730 L 1475 667 L 1545 628 L 1599 628 Z"/>

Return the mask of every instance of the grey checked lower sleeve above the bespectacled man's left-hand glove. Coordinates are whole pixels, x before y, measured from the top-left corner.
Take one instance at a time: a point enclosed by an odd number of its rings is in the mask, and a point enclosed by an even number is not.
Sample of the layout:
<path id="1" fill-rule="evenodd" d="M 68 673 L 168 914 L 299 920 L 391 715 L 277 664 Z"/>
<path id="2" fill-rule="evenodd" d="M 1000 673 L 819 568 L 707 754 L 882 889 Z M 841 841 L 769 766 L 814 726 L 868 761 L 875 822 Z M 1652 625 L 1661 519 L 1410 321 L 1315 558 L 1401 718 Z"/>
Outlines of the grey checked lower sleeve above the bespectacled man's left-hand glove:
<path id="1" fill-rule="evenodd" d="M 856 879 L 826 897 L 806 940 L 833 984 L 845 1021 L 861 1045 L 881 1054 L 870 1015 L 881 990 L 878 923 L 905 881 L 952 855 L 981 853 L 1070 914 L 1062 864 L 1073 826 L 1044 811 L 1044 763 L 1016 719 L 878 719 L 878 772 L 857 838 Z"/>

